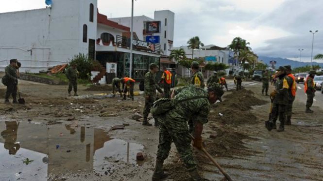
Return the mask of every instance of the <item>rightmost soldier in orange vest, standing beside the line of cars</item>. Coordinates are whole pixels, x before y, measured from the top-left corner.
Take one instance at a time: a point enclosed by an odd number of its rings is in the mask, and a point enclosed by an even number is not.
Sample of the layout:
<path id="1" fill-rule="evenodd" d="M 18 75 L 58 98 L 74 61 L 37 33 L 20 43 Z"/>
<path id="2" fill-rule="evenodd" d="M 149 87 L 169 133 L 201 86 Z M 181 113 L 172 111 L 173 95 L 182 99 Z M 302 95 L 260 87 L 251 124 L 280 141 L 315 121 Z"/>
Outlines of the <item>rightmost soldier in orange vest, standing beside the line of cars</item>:
<path id="1" fill-rule="evenodd" d="M 316 72 L 314 70 L 311 70 L 308 72 L 308 76 L 306 78 L 306 81 L 304 83 L 304 91 L 307 95 L 307 101 L 306 101 L 306 113 L 313 113 L 314 111 L 310 109 L 310 107 L 313 105 L 313 99 L 315 96 L 315 87 L 314 87 L 314 76 L 316 75 Z"/>

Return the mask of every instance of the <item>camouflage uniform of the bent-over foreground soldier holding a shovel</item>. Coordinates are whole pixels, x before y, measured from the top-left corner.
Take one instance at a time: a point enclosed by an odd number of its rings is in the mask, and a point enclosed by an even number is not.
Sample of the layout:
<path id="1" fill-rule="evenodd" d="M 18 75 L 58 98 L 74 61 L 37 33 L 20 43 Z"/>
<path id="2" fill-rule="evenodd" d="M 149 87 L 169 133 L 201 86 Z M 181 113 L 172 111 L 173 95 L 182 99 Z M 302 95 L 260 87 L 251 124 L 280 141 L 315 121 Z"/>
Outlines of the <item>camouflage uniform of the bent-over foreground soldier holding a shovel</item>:
<path id="1" fill-rule="evenodd" d="M 193 159 L 187 118 L 192 118 L 192 120 L 203 124 L 207 123 L 207 115 L 210 110 L 208 93 L 206 90 L 192 85 L 175 90 L 174 93 L 176 95 L 174 99 L 178 101 L 195 96 L 205 96 L 205 98 L 181 102 L 166 114 L 158 117 L 160 130 L 156 159 L 163 162 L 168 157 L 173 141 L 187 170 L 194 170 L 196 162 Z"/>

